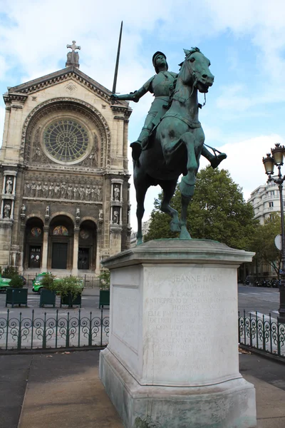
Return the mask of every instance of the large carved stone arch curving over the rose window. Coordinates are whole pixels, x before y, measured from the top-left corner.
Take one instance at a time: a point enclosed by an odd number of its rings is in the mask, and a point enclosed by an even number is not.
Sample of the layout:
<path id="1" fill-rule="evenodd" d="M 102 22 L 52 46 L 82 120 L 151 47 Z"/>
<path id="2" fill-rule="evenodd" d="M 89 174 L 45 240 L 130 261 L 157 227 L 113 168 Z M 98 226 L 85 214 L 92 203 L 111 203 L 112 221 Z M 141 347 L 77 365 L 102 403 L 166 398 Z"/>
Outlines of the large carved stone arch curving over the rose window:
<path id="1" fill-rule="evenodd" d="M 38 104 L 38 106 L 33 108 L 28 114 L 24 121 L 21 134 L 21 161 L 23 163 L 31 162 L 32 133 L 35 131 L 37 124 L 41 121 L 41 118 L 51 114 L 51 112 L 54 113 L 56 110 L 63 111 L 64 109 L 66 109 L 66 111 L 77 109 L 81 111 L 83 116 L 88 116 L 88 119 L 93 121 L 100 136 L 100 159 L 98 159 L 98 167 L 104 168 L 105 166 L 110 166 L 110 128 L 107 121 L 102 113 L 90 103 L 71 97 L 51 98 L 50 100 L 43 101 L 43 103 Z M 78 164 L 80 163 L 81 161 L 78 162 Z"/>

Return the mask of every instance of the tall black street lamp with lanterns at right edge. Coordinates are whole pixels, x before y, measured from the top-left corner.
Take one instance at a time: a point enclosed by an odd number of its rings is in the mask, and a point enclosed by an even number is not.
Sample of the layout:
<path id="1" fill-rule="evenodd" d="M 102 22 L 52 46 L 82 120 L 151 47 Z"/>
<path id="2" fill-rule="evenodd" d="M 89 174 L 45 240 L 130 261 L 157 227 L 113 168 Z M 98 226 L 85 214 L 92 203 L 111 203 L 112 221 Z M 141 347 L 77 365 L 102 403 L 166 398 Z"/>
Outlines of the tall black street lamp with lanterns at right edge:
<path id="1" fill-rule="evenodd" d="M 262 158 L 264 163 L 265 173 L 268 175 L 268 182 L 273 181 L 278 184 L 279 197 L 280 197 L 280 210 L 281 210 L 281 283 L 279 285 L 279 322 L 285 322 L 285 239 L 284 239 L 284 207 L 283 207 L 283 182 L 285 175 L 281 175 L 281 165 L 283 165 L 285 147 L 280 146 L 279 143 L 275 144 L 274 148 L 271 148 L 271 154 L 267 153 L 266 158 Z M 277 178 L 271 177 L 274 173 L 274 165 L 278 168 Z"/>

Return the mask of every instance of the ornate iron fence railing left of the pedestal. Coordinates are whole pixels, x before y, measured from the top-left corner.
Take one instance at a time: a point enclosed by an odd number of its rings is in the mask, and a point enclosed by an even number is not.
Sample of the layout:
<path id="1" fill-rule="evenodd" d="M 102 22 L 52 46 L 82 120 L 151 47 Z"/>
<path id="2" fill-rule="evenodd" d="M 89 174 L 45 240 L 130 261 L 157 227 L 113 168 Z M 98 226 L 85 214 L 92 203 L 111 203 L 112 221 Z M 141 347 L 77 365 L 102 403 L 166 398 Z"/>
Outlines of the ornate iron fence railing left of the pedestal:
<path id="1" fill-rule="evenodd" d="M 5 317 L 0 317 L 0 350 L 35 350 L 48 348 L 69 348 L 83 346 L 103 346 L 108 343 L 109 317 L 82 315 L 78 310 L 76 316 L 58 310 L 54 316 L 35 315 L 31 317 L 19 313 L 13 317 L 9 309 Z"/>

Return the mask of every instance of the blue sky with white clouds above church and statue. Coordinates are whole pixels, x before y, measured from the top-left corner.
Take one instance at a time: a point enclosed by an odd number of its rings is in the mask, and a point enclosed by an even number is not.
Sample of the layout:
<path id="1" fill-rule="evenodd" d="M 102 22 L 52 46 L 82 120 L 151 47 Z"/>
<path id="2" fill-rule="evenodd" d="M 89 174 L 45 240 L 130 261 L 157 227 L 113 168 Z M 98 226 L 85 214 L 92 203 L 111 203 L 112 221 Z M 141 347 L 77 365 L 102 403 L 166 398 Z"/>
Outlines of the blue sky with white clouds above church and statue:
<path id="1" fill-rule="evenodd" d="M 135 91 L 154 74 L 155 51 L 164 52 L 169 70 L 177 72 L 183 49 L 198 46 L 214 74 L 199 113 L 205 143 L 227 153 L 220 166 L 247 200 L 266 182 L 262 157 L 274 143 L 284 144 L 284 16 L 283 0 L 0 0 L 0 90 L 64 68 L 66 44 L 73 40 L 81 46 L 81 71 L 111 89 L 120 21 L 118 93 Z M 138 138 L 151 102 L 147 93 L 130 103 L 130 142 Z M 0 136 L 4 113 L 1 99 Z M 129 160 L 132 173 L 130 152 Z M 158 190 L 148 190 L 143 220 Z M 130 202 L 136 230 L 133 185 Z"/>

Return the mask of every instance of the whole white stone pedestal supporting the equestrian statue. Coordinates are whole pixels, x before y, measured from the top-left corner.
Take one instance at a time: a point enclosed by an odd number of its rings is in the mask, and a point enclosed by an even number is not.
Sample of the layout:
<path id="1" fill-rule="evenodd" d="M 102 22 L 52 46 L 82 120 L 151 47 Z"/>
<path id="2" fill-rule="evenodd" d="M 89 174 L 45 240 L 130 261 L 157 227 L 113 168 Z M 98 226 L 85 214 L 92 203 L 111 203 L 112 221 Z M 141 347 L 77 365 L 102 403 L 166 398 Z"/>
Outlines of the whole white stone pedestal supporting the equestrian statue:
<path id="1" fill-rule="evenodd" d="M 110 342 L 100 379 L 126 428 L 256 426 L 239 374 L 237 267 L 253 253 L 209 240 L 154 240 L 104 260 Z"/>

